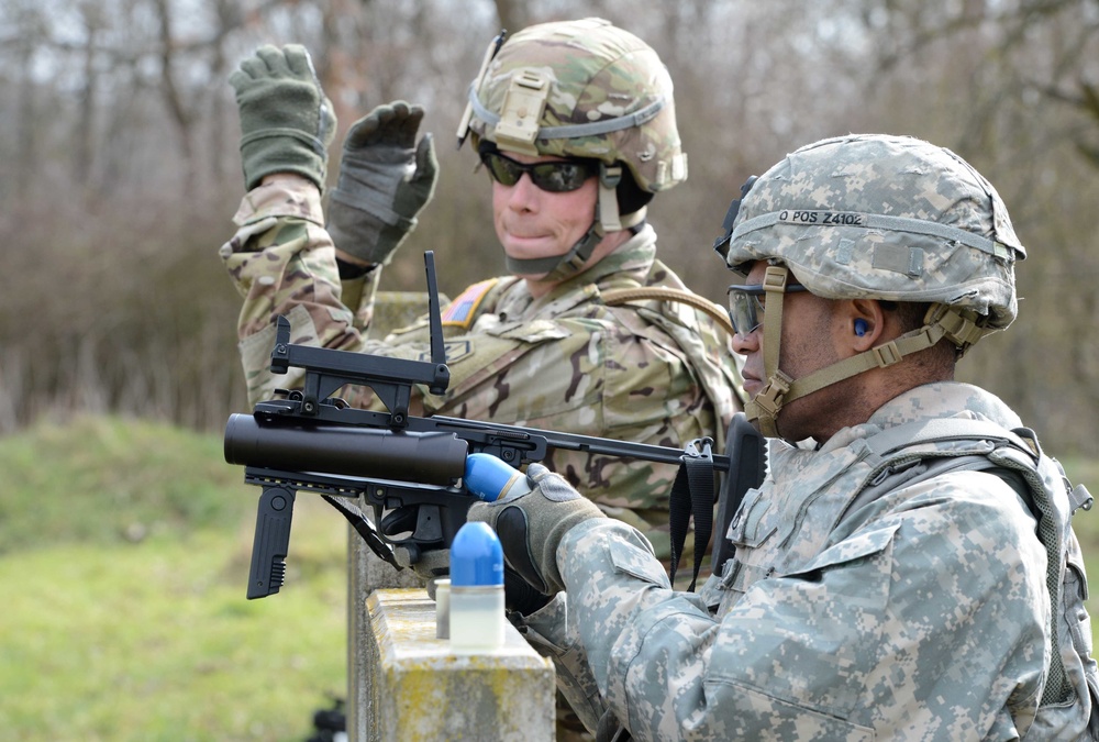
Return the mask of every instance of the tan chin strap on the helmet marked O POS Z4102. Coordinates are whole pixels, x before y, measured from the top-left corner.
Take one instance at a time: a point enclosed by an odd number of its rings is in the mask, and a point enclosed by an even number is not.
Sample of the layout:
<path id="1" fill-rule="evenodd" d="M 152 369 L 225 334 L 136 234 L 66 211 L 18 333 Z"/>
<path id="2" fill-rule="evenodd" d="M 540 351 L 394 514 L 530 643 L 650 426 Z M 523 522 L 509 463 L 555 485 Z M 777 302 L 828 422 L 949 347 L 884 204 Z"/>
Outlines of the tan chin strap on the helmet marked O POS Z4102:
<path id="1" fill-rule="evenodd" d="M 764 306 L 763 366 L 767 385 L 744 406 L 750 422 L 756 423 L 759 432 L 768 438 L 778 438 L 778 413 L 795 399 L 807 397 L 824 387 L 851 378 L 872 368 L 886 368 L 901 358 L 924 351 L 943 337 L 957 348 L 959 355 L 974 343 L 995 330 L 980 326 L 980 315 L 972 310 L 963 310 L 935 303 L 923 318 L 923 326 L 868 351 L 819 368 L 800 379 L 793 379 L 778 368 L 779 346 L 782 336 L 782 299 L 789 269 L 785 266 L 768 266 L 764 276 L 767 303 Z"/>

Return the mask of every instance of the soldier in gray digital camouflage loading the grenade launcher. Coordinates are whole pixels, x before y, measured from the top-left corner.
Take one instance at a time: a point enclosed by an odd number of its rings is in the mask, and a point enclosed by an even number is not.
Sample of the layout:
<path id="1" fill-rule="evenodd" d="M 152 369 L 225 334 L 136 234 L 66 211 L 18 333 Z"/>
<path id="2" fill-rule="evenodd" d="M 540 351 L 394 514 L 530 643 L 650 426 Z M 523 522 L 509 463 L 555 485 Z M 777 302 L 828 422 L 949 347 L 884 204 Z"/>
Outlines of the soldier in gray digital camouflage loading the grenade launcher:
<path id="1" fill-rule="evenodd" d="M 1095 739 L 1069 520 L 1091 498 L 953 380 L 1015 317 L 999 196 L 882 135 L 802 147 L 745 191 L 715 246 L 746 414 L 773 438 L 733 557 L 674 591 L 640 533 L 531 465 L 529 494 L 469 512 L 554 596 L 529 640 L 597 739 Z"/>

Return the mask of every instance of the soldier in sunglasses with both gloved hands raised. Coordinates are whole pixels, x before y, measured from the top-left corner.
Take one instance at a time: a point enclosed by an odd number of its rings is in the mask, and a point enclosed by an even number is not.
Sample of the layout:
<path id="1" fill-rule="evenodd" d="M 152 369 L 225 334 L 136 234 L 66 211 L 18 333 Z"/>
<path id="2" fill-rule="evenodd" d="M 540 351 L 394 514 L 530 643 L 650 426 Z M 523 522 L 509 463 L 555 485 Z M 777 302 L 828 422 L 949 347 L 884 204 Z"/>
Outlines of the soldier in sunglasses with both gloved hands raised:
<path id="1" fill-rule="evenodd" d="M 451 386 L 443 396 L 422 390 L 413 405 L 676 447 L 710 436 L 720 446 L 739 409 L 725 317 L 719 310 L 715 321 L 713 304 L 688 295 L 656 259 L 645 222 L 652 196 L 687 177 L 667 70 L 639 38 L 597 19 L 532 26 L 489 54 L 459 137 L 471 140 L 493 180 L 513 275 L 478 283 L 444 308 Z M 432 195 L 430 135 L 415 144 L 422 109 L 379 107 L 352 128 L 324 229 L 323 153 L 335 121 L 304 49 L 263 47 L 230 81 L 249 192 L 221 254 L 245 299 L 238 331 L 249 400 L 300 384 L 300 375 L 268 370 L 278 314 L 288 315 L 296 343 L 425 357 L 425 323 L 366 337 L 375 268 Z M 291 101 L 297 110 L 288 111 Z M 262 151 L 280 142 L 282 152 Z M 459 259 L 445 251 L 437 258 L 444 267 Z M 640 298 L 624 294 L 637 289 Z M 644 296 L 650 289 L 664 294 Z M 341 396 L 375 403 L 367 389 Z M 674 467 L 573 452 L 555 452 L 548 464 L 667 551 Z"/>

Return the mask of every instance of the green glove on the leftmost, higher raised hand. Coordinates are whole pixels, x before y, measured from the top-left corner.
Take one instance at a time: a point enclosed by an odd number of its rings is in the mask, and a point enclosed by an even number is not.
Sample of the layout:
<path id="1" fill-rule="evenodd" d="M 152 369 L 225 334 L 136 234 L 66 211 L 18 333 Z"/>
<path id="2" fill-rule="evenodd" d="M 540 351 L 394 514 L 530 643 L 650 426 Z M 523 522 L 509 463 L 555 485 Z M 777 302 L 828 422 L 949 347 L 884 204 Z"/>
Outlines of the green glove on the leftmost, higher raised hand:
<path id="1" fill-rule="evenodd" d="M 323 191 L 336 117 L 306 47 L 265 44 L 229 84 L 241 109 L 245 187 L 252 190 L 273 173 L 296 173 Z"/>

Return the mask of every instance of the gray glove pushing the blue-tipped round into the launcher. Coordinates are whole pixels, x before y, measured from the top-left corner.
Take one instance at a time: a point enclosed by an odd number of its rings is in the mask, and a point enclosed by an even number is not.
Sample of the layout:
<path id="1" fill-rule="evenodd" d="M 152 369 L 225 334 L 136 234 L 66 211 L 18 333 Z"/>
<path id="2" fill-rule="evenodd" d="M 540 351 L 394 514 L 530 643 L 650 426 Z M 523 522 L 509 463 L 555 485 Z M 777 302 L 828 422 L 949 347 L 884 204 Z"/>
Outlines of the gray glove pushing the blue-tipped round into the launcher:
<path id="1" fill-rule="evenodd" d="M 492 527 L 508 565 L 535 590 L 553 596 L 565 589 L 557 568 L 562 538 L 574 525 L 607 516 L 541 464 L 528 467 L 526 481 L 530 491 L 496 502 L 475 502 L 466 520 Z"/>

